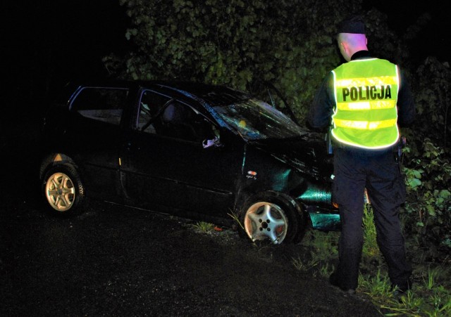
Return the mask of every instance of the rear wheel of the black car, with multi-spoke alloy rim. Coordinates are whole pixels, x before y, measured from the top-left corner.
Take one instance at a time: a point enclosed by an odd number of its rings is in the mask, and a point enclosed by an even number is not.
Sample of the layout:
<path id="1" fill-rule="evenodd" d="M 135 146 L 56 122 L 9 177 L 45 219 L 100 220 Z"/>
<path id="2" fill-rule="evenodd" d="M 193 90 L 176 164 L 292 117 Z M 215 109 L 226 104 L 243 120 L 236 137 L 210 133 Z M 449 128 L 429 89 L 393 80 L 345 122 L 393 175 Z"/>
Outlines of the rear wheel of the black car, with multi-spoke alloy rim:
<path id="1" fill-rule="evenodd" d="M 48 211 L 57 216 L 80 214 L 85 207 L 85 187 L 70 164 L 54 165 L 45 172 L 42 194 Z"/>

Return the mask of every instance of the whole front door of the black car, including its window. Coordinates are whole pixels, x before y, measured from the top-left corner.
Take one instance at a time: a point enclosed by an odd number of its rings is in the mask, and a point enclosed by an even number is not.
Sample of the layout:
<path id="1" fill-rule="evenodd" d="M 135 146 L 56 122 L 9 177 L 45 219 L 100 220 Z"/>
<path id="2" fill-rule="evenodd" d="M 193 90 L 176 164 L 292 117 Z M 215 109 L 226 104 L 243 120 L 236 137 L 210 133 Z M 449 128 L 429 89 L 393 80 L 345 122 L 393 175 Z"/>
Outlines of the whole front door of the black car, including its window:
<path id="1" fill-rule="evenodd" d="M 214 138 L 212 124 L 185 103 L 143 91 L 135 129 L 121 150 L 121 176 L 130 202 L 183 213 L 230 212 L 243 145 L 204 148 L 202 140 Z"/>

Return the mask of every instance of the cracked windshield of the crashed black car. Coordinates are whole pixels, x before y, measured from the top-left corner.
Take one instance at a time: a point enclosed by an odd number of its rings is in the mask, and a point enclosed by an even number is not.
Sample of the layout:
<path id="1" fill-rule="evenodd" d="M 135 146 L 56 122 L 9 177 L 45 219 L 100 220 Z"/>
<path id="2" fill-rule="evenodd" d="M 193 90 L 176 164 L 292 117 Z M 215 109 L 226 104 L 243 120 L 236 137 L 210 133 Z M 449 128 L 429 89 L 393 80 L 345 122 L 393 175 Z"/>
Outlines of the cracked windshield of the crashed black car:
<path id="1" fill-rule="evenodd" d="M 248 140 L 291 138 L 305 133 L 292 119 L 257 99 L 216 106 L 214 110 Z"/>

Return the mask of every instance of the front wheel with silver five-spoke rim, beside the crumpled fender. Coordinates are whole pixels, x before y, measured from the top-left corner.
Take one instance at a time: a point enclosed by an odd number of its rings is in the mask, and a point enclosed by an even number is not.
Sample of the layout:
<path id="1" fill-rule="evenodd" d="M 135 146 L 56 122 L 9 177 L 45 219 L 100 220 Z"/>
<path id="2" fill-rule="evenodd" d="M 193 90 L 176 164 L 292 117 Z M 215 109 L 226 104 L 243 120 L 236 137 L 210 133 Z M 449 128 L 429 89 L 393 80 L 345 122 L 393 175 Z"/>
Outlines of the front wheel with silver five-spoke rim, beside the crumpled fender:
<path id="1" fill-rule="evenodd" d="M 304 219 L 300 208 L 285 195 L 262 193 L 247 200 L 242 209 L 240 235 L 273 245 L 298 242 L 305 231 Z"/>

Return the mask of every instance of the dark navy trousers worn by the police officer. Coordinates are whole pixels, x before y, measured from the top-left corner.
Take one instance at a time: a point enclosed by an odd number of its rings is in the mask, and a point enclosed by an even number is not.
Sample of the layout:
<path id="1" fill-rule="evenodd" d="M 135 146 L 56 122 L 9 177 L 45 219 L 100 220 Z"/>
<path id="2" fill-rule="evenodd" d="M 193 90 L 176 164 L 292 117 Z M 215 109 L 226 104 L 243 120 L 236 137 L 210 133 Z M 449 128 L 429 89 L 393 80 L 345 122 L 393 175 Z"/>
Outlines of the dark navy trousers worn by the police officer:
<path id="1" fill-rule="evenodd" d="M 356 289 L 362 257 L 364 189 L 373 207 L 378 247 L 393 285 L 407 289 L 412 267 L 407 262 L 399 209 L 405 185 L 392 150 L 337 148 L 334 153 L 333 200 L 340 209 L 342 231 L 335 280 Z"/>

